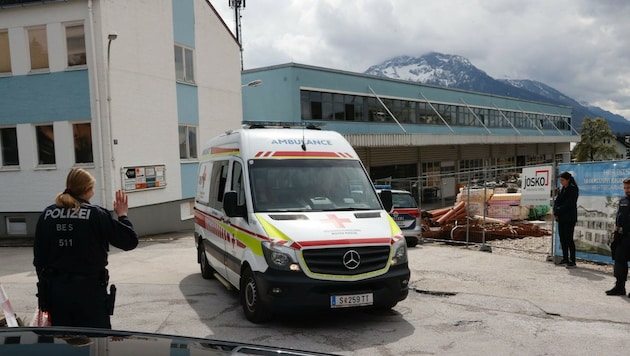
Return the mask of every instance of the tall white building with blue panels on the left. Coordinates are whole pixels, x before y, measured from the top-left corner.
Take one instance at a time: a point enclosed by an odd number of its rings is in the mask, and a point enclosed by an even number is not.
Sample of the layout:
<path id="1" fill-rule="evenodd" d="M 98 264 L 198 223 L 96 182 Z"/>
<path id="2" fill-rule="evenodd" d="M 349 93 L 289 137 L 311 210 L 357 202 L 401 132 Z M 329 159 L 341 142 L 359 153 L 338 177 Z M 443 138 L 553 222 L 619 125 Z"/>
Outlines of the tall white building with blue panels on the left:
<path id="1" fill-rule="evenodd" d="M 199 141 L 240 124 L 240 47 L 204 0 L 0 2 L 0 239 L 72 167 L 141 235 L 192 228 Z"/>

